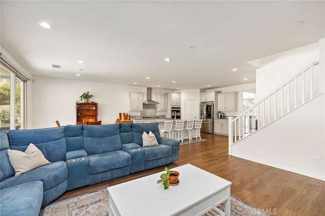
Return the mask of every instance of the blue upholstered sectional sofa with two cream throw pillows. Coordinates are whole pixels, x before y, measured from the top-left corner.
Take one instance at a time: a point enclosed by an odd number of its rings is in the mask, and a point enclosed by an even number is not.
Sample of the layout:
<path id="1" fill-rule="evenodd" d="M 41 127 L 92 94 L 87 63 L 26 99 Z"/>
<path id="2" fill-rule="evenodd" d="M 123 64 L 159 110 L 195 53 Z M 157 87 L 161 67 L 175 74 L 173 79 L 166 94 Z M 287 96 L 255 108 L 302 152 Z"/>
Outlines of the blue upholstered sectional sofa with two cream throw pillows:
<path id="1" fill-rule="evenodd" d="M 144 131 L 159 145 L 142 147 Z M 51 163 L 15 176 L 8 149 L 29 143 Z M 67 125 L 0 132 L 0 154 L 0 215 L 38 215 L 67 190 L 174 162 L 179 141 L 160 137 L 158 123 Z"/>

